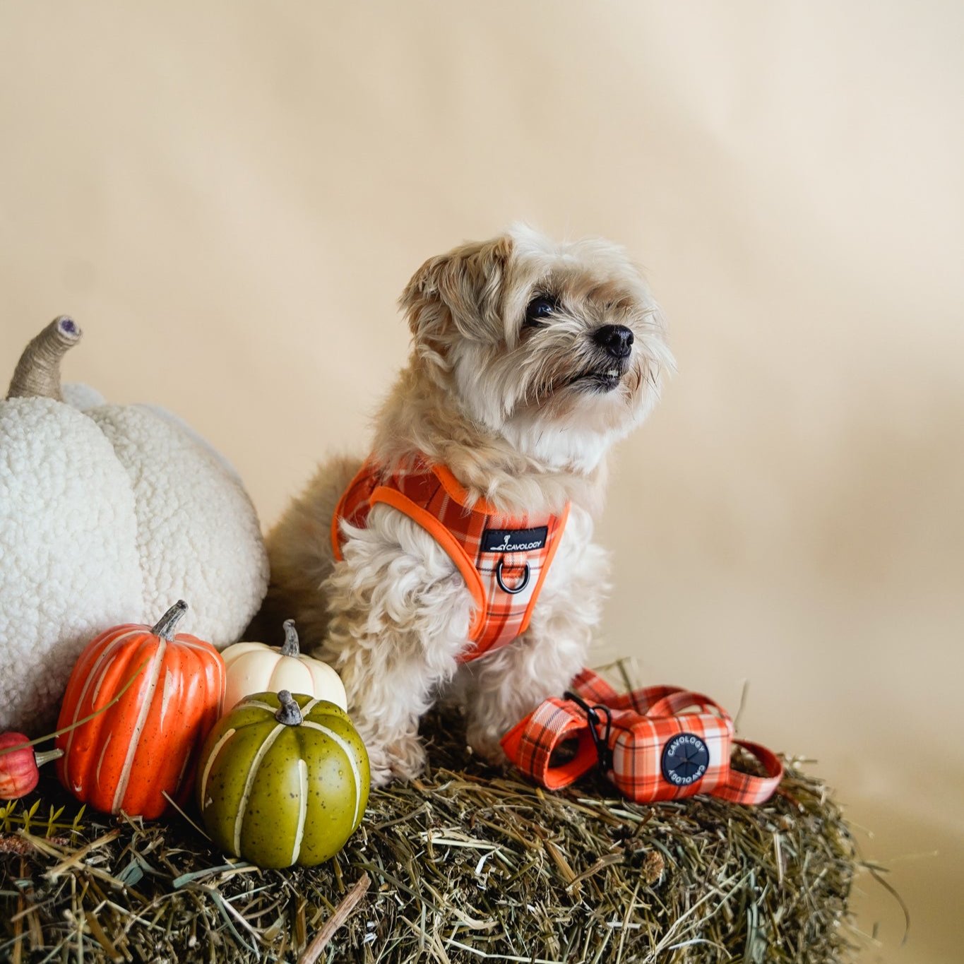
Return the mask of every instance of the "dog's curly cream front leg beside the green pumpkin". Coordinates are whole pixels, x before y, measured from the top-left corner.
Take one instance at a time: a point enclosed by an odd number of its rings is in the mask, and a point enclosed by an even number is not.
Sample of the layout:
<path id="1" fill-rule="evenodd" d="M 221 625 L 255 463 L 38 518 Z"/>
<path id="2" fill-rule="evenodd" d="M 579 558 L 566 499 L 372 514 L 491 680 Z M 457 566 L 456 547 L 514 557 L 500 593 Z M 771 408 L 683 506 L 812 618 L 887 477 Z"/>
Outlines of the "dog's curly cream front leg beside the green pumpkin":
<path id="1" fill-rule="evenodd" d="M 418 720 L 454 675 L 471 597 L 438 544 L 415 522 L 376 506 L 350 528 L 324 592 L 331 622 L 320 656 L 341 675 L 368 750 L 372 784 L 421 771 Z"/>

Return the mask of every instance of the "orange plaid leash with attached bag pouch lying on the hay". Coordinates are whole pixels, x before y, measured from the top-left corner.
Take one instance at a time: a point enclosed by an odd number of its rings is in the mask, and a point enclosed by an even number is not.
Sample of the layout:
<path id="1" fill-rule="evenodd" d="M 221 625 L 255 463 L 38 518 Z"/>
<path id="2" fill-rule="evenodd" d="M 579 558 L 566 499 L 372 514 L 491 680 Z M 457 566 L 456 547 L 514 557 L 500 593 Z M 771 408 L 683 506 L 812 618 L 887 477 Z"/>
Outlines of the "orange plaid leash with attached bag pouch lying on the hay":
<path id="1" fill-rule="evenodd" d="M 572 741 L 575 753 L 555 763 L 555 751 Z M 734 745 L 755 757 L 765 776 L 733 769 Z M 549 790 L 568 787 L 602 764 L 617 789 L 640 803 L 695 793 L 763 803 L 784 772 L 770 750 L 735 739 L 733 720 L 709 697 L 676 686 L 619 694 L 590 670 L 576 677 L 566 698 L 546 700 L 513 727 L 502 748 Z"/>

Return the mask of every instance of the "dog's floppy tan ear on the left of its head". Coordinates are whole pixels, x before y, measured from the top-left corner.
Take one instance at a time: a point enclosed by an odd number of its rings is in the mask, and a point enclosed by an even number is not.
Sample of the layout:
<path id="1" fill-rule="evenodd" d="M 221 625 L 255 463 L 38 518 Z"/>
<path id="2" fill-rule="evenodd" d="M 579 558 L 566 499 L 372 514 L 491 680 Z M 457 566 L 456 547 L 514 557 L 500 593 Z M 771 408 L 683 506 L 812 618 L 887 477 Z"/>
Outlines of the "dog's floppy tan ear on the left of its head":
<path id="1" fill-rule="evenodd" d="M 445 343 L 460 335 L 488 340 L 501 331 L 501 291 L 512 239 L 463 245 L 429 258 L 409 281 L 399 306 L 415 343 L 444 355 Z"/>

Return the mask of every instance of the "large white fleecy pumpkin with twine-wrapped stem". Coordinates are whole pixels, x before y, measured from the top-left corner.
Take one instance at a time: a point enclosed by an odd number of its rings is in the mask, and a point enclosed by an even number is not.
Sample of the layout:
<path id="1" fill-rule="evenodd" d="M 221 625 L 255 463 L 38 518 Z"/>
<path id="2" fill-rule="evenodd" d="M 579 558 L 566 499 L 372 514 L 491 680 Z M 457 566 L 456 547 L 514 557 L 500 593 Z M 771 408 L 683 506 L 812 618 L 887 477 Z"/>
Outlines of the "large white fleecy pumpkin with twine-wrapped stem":
<path id="1" fill-rule="evenodd" d="M 191 631 L 233 642 L 267 588 L 251 500 L 227 463 L 174 416 L 62 400 L 60 361 L 80 338 L 57 318 L 0 400 L 0 730 L 42 730 L 76 656 L 104 629 L 191 601 Z"/>

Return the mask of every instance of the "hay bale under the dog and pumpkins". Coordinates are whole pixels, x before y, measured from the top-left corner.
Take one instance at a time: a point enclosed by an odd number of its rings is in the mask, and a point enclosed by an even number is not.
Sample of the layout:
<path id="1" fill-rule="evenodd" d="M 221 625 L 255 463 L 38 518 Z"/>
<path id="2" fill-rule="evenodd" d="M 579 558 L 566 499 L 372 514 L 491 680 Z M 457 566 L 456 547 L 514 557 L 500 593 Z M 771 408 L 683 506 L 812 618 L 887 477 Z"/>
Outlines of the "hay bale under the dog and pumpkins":
<path id="1" fill-rule="evenodd" d="M 78 816 L 48 774 L 39 796 L 0 808 L 0 960 L 295 961 L 364 873 L 370 888 L 316 959 L 844 955 L 854 846 L 796 765 L 763 807 L 639 806 L 602 779 L 551 794 L 491 770 L 458 719 L 426 730 L 431 770 L 373 792 L 360 831 L 312 870 L 226 861 L 182 817 Z"/>

